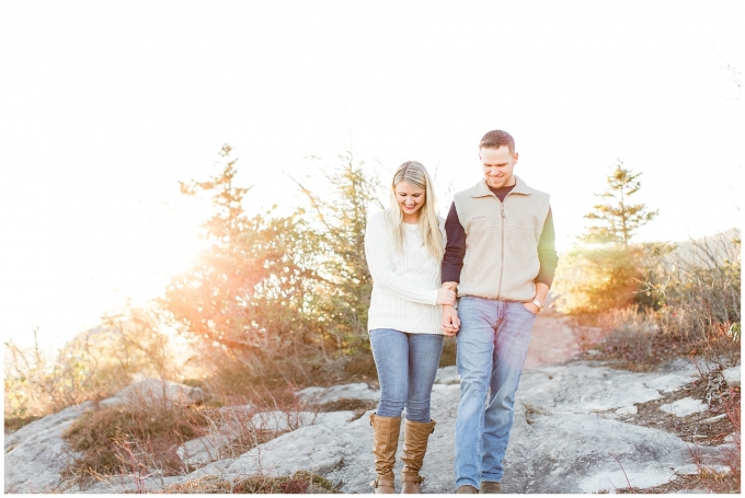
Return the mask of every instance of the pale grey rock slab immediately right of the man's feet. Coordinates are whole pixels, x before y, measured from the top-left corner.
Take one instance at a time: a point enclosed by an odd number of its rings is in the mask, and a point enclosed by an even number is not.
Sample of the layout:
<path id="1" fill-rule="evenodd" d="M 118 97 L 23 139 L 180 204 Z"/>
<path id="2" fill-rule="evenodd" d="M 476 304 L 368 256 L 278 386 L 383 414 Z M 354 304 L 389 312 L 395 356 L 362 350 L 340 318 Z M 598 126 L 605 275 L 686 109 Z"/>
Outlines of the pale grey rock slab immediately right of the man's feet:
<path id="1" fill-rule="evenodd" d="M 690 459 L 674 435 L 588 414 L 520 405 L 505 456 L 505 493 L 598 493 L 667 483 Z"/>

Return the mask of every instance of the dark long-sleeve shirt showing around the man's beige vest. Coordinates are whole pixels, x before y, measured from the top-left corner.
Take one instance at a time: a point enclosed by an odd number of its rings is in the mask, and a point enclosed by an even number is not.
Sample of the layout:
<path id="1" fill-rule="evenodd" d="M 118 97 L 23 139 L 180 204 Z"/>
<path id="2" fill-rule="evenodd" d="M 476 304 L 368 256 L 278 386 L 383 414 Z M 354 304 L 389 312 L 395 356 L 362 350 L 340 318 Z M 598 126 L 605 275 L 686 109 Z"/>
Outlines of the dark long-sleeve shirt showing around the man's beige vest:
<path id="1" fill-rule="evenodd" d="M 501 202 L 504 202 L 504 198 L 513 188 L 515 188 L 515 185 L 501 188 L 489 187 Z M 445 232 L 447 233 L 447 245 L 445 246 L 445 256 L 443 257 L 443 282 L 460 282 L 460 270 L 463 267 L 463 257 L 466 256 L 466 231 L 463 225 L 460 224 L 460 219 L 458 219 L 455 202 L 452 202 L 450 211 L 447 213 Z M 536 283 L 546 283 L 550 288 L 553 282 L 553 276 L 557 273 L 557 266 L 559 265 L 553 216 L 551 215 L 550 207 L 538 242 L 538 260 L 540 262 L 540 269 L 534 281 Z"/>

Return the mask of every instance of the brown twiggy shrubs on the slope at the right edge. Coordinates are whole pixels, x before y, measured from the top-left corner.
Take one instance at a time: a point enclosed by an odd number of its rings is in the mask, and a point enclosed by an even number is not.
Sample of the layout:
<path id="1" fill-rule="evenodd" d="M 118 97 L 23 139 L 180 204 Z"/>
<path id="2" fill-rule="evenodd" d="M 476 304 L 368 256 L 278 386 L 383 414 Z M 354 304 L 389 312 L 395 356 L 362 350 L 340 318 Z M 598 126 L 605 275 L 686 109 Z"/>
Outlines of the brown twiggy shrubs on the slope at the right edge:
<path id="1" fill-rule="evenodd" d="M 634 370 L 677 356 L 703 357 L 723 368 L 740 363 L 740 233 L 690 241 L 671 254 L 646 254 L 640 265 L 645 279 L 635 294 L 646 305 L 595 316 L 610 331 L 600 346 L 606 356 Z"/>

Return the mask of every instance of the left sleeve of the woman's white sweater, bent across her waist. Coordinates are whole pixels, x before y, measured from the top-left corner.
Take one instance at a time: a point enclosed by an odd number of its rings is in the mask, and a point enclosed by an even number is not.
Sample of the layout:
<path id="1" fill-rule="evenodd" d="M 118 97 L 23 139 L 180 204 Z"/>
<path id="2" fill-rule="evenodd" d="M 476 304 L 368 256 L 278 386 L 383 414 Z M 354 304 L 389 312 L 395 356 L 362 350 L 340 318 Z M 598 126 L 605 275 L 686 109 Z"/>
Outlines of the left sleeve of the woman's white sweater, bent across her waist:
<path id="1" fill-rule="evenodd" d="M 393 240 L 386 230 L 382 213 L 370 218 L 365 229 L 365 255 L 373 282 L 392 294 L 422 304 L 437 304 L 439 289 L 426 289 L 406 281 L 393 269 Z"/>

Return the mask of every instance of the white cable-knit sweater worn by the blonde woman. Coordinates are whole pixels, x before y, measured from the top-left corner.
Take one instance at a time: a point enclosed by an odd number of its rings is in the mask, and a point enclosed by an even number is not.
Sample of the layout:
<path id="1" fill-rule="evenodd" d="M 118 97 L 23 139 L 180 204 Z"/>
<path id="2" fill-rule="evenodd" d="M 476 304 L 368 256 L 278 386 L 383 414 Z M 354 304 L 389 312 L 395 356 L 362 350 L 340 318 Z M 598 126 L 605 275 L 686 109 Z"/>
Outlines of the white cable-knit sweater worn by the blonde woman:
<path id="1" fill-rule="evenodd" d="M 444 240 L 443 218 L 439 225 Z M 442 262 L 427 253 L 417 224 L 406 224 L 404 235 L 403 253 L 399 253 L 382 212 L 367 222 L 365 254 L 373 276 L 367 329 L 442 334 L 442 306 L 436 304 Z"/>

